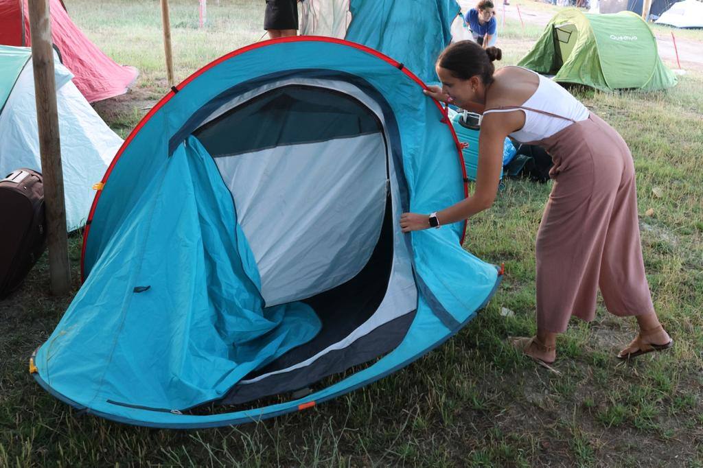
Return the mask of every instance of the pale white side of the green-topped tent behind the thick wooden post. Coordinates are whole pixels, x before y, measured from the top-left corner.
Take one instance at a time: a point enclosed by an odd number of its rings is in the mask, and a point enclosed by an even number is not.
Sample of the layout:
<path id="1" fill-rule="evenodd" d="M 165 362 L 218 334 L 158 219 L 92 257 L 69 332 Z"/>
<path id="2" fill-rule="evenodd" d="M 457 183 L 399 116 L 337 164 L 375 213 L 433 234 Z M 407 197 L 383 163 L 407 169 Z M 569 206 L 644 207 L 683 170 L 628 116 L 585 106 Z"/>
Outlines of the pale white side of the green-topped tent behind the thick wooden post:
<path id="1" fill-rule="evenodd" d="M 95 191 L 122 138 L 110 130 L 56 60 L 56 101 L 67 230 L 84 225 Z M 0 174 L 27 167 L 41 171 L 32 63 L 27 63 L 0 115 Z"/>

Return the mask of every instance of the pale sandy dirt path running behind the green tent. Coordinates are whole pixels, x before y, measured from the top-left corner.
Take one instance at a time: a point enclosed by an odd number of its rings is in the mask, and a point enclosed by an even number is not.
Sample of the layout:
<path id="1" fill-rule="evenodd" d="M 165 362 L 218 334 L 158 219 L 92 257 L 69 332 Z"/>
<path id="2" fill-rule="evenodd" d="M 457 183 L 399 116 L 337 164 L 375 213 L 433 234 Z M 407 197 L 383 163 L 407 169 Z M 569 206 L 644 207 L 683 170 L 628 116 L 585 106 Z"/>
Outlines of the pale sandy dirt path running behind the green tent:
<path id="1" fill-rule="evenodd" d="M 469 8 L 475 5 L 475 1 L 458 0 L 461 10 L 466 12 Z M 503 5 L 501 0 L 496 0 L 496 11 L 498 18 L 503 13 Z M 520 15 L 525 23 L 544 27 L 553 14 L 548 11 L 540 11 L 537 8 L 531 7 L 529 4 L 520 5 Z M 512 3 L 505 6 L 505 18 L 511 20 L 520 20 L 520 15 L 517 12 L 517 6 Z M 657 46 L 659 48 L 659 56 L 662 57 L 664 63 L 671 68 L 678 68 L 676 63 L 676 52 L 673 48 L 671 34 L 662 32 L 654 32 L 654 37 L 657 38 Z M 676 38 L 676 47 L 678 48 L 678 58 L 681 60 L 681 67 L 684 70 L 701 70 L 703 71 L 703 42 L 692 39 Z"/>

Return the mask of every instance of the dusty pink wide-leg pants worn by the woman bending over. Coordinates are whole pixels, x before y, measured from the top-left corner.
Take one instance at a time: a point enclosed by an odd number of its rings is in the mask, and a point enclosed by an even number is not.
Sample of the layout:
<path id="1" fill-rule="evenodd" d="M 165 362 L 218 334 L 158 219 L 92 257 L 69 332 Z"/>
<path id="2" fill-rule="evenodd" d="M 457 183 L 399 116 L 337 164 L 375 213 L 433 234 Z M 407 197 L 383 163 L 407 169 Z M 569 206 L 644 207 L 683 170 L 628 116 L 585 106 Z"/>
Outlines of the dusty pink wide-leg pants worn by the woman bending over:
<path id="1" fill-rule="evenodd" d="M 593 320 L 598 288 L 616 316 L 652 313 L 640 245 L 635 169 L 622 137 L 593 113 L 533 142 L 554 161 L 537 233 L 537 326 Z"/>

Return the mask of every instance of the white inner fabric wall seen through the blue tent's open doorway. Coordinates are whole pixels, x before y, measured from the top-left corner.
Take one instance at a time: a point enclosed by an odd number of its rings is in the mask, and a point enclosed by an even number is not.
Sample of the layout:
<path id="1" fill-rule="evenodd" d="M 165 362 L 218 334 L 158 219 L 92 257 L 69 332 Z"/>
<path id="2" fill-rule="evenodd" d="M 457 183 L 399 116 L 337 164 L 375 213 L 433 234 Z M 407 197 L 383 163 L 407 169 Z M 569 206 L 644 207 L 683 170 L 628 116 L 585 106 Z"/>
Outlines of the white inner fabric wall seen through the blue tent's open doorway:
<path id="1" fill-rule="evenodd" d="M 382 134 L 217 157 L 262 280 L 266 306 L 354 278 L 373 252 L 386 203 Z"/>

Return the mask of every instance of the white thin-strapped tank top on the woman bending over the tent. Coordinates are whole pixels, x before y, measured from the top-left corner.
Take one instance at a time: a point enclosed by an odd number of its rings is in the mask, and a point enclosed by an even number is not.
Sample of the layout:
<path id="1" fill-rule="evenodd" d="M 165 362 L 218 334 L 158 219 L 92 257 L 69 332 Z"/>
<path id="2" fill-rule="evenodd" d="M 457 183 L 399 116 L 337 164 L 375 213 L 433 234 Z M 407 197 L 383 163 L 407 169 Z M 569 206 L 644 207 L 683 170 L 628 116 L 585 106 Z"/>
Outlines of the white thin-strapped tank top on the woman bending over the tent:
<path id="1" fill-rule="evenodd" d="M 525 124 L 522 129 L 510 134 L 520 143 L 548 138 L 574 122 L 588 119 L 589 112 L 586 106 L 574 98 L 569 91 L 541 74 L 533 73 L 539 77 L 539 84 L 528 100 L 520 106 L 487 109 L 484 115 L 491 112 L 522 110 L 525 114 Z"/>

